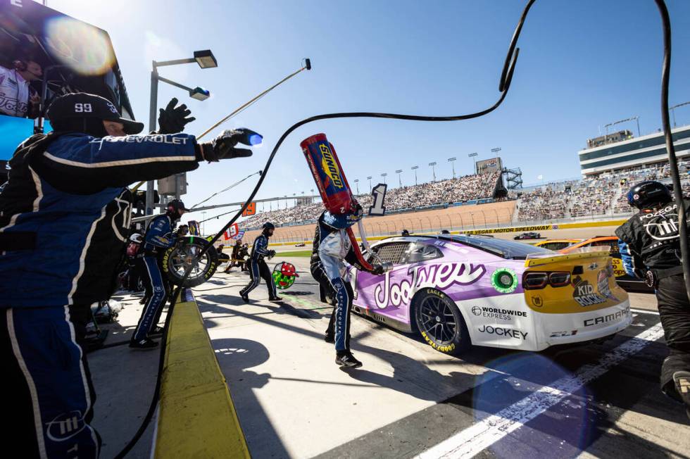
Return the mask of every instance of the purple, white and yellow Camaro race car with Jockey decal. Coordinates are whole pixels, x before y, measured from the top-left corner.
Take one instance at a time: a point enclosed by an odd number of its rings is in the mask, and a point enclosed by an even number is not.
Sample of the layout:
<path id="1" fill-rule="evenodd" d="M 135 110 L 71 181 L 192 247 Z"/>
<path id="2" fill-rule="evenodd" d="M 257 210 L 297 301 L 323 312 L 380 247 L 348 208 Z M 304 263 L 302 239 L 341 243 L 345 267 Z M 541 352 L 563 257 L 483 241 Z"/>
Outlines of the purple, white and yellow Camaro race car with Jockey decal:
<path id="1" fill-rule="evenodd" d="M 632 321 L 608 249 L 568 255 L 467 234 L 383 239 L 384 275 L 350 270 L 353 309 L 437 351 L 470 345 L 541 351 L 605 339 Z"/>

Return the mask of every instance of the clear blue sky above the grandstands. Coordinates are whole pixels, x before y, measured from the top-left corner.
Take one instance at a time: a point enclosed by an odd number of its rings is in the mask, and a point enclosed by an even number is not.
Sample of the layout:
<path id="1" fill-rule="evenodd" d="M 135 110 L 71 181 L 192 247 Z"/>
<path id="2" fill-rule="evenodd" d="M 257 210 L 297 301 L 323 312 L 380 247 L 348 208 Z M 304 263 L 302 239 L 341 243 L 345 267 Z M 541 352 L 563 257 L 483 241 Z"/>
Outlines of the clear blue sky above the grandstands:
<path id="1" fill-rule="evenodd" d="M 498 78 L 525 1 L 308 1 L 254 0 L 49 0 L 48 6 L 106 30 L 125 78 L 134 115 L 149 118 L 151 61 L 191 57 L 211 49 L 218 68 L 160 69 L 160 75 L 211 91 L 189 99 L 161 83 L 158 106 L 173 96 L 196 121 L 199 134 L 234 108 L 280 81 L 311 58 L 302 72 L 218 127 L 249 127 L 264 136 L 251 158 L 203 164 L 189 172 L 187 206 L 246 175 L 263 170 L 277 139 L 303 118 L 341 111 L 460 115 L 498 99 Z M 690 101 L 690 1 L 667 0 L 672 20 L 670 105 Z M 279 149 L 257 198 L 300 196 L 315 189 L 299 148 L 324 132 L 351 185 L 360 191 L 387 173 L 389 187 L 472 173 L 472 158 L 493 148 L 525 184 L 579 177 L 577 151 L 604 125 L 639 116 L 641 134 L 660 120 L 663 49 L 660 17 L 652 0 L 539 0 L 520 36 L 520 58 L 506 101 L 493 113 L 456 122 L 379 119 L 323 120 L 300 127 Z M 690 124 L 690 106 L 675 111 Z M 637 133 L 635 122 L 620 125 Z M 211 140 L 211 136 L 203 140 Z M 539 176 L 542 178 L 539 179 Z M 205 203 L 243 201 L 254 176 Z M 274 204 L 275 206 L 275 204 Z M 284 206 L 281 203 L 280 206 Z M 275 207 L 274 207 L 275 208 Z M 258 210 L 262 209 L 261 203 Z M 265 210 L 268 210 L 268 203 Z M 201 220 L 224 210 L 192 213 Z M 207 233 L 227 217 L 206 222 Z"/>

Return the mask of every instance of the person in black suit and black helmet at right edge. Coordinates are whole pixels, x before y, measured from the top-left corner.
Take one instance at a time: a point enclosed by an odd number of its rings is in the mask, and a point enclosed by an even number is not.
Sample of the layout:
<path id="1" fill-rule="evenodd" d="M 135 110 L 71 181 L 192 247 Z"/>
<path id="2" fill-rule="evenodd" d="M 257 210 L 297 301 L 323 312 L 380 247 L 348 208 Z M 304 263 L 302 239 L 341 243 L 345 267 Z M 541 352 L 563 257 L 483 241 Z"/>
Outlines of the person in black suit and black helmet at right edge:
<path id="1" fill-rule="evenodd" d="M 690 417 L 690 301 L 680 259 L 678 203 L 659 182 L 634 185 L 627 199 L 640 212 L 616 230 L 623 266 L 629 275 L 646 279 L 656 289 L 670 351 L 661 367 L 661 389 L 685 403 Z M 687 218 L 690 200 L 684 199 L 682 205 Z"/>

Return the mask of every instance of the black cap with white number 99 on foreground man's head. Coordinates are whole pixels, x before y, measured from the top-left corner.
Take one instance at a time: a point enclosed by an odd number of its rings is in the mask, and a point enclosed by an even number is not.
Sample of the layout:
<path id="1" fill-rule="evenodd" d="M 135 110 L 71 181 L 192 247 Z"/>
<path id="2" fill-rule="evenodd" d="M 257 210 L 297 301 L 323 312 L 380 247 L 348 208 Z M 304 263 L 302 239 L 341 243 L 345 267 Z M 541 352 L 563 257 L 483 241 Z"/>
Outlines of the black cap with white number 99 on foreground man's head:
<path id="1" fill-rule="evenodd" d="M 50 120 L 55 130 L 76 130 L 86 134 L 103 134 L 97 129 L 93 132 L 98 124 L 101 124 L 102 128 L 102 123 L 94 124 L 86 120 L 121 122 L 127 134 L 139 134 L 144 129 L 144 123 L 122 118 L 118 109 L 108 99 L 85 92 L 59 96 L 48 107 L 46 118 Z"/>

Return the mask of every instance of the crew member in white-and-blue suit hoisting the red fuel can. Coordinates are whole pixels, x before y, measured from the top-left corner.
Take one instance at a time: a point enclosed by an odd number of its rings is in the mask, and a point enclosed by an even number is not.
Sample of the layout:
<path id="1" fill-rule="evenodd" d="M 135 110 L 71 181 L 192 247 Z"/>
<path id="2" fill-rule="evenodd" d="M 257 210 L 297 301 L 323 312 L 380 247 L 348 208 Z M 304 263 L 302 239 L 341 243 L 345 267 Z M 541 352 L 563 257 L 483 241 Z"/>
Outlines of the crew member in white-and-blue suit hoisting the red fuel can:
<path id="1" fill-rule="evenodd" d="M 353 212 L 343 215 L 334 215 L 325 210 L 319 216 L 312 249 L 313 254 L 318 254 L 319 262 L 315 263 L 312 255 L 311 272 L 319 284 L 328 282 L 334 292 L 335 304 L 324 339 L 328 343 L 335 343 L 335 363 L 356 368 L 361 367 L 362 363 L 350 351 L 350 310 L 353 291 L 350 282 L 346 281 L 344 261 L 358 270 L 365 268 L 360 265 L 346 232 L 347 228 L 362 218 L 362 207 L 355 203 L 353 208 Z M 377 265 L 372 272 L 383 274 L 383 268 Z"/>

